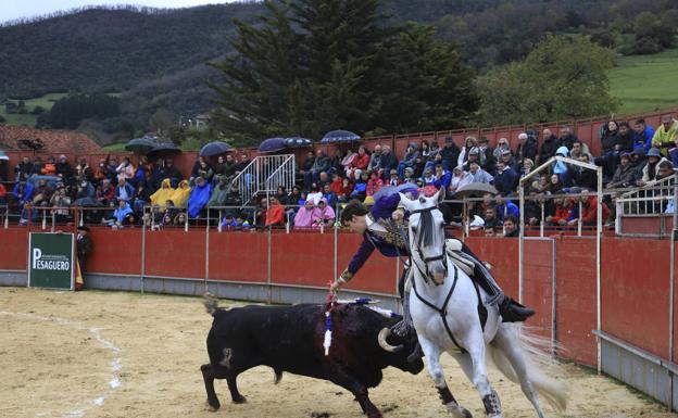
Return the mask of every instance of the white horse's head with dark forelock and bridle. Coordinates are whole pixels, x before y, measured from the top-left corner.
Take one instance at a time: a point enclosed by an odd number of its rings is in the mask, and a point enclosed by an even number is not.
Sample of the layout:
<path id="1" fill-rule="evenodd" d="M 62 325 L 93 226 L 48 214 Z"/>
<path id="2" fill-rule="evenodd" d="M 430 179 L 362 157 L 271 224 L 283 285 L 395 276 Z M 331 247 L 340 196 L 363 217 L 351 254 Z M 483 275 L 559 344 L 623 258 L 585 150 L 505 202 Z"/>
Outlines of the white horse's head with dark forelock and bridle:
<path id="1" fill-rule="evenodd" d="M 410 248 L 416 269 L 425 280 L 442 284 L 448 276 L 444 239 L 444 219 L 438 204 L 444 199 L 444 189 L 426 198 L 411 200 L 400 193 L 400 200 L 410 212 Z M 418 259 L 417 259 L 418 258 Z"/>

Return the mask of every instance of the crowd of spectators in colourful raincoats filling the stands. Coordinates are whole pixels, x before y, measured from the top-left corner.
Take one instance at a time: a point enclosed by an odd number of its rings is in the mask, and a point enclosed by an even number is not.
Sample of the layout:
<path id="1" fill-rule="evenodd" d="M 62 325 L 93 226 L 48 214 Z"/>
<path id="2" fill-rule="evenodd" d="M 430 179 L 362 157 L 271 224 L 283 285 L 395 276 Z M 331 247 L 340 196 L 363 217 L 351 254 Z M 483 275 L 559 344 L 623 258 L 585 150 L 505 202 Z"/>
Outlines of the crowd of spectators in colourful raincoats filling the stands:
<path id="1" fill-rule="evenodd" d="M 541 135 L 541 144 L 538 137 Z M 86 221 L 113 228 L 147 223 L 154 228 L 184 226 L 189 219 L 218 219 L 225 229 L 255 226 L 290 226 L 294 229 L 323 228 L 335 223 L 337 208 L 357 199 L 374 203 L 374 195 L 386 186 L 413 183 L 435 191 L 444 188 L 449 197 L 470 183 L 493 186 L 498 194 L 486 194 L 466 206 L 448 204 L 445 219 L 468 225 L 493 236 L 501 228 L 507 237 L 517 236 L 518 207 L 515 197 L 519 180 L 554 155 L 566 156 L 602 167 L 606 190 L 642 188 L 674 174 L 678 164 L 678 122 L 664 116 L 656 130 L 643 119 L 608 121 L 600 129 L 601 154 L 592 155 L 568 126 L 557 132 L 528 130 L 517 143 L 500 138 L 490 147 L 487 138 L 469 136 L 456 144 L 451 137 L 443 143 L 410 143 L 398 159 L 388 145 L 373 149 L 323 150 L 309 152 L 300 164 L 298 186 L 278 188 L 253 208 L 243 208 L 238 182 L 233 181 L 250 163 L 246 153 L 218 156 L 210 162 L 200 157 L 190 176 L 184 178 L 172 159 L 136 166 L 128 159 L 101 160 L 90 167 L 86 159 L 72 165 L 64 155 L 58 160 L 24 157 L 14 168 L 15 185 L 0 185 L 0 204 L 20 213 L 20 224 L 37 221 L 40 207 L 49 207 L 58 221 L 71 220 L 73 205 L 89 206 Z M 557 161 L 532 174 L 525 193 L 526 224 L 553 227 L 597 224 L 598 198 L 594 170 Z M 477 186 L 477 185 L 476 185 Z M 572 197 L 576 194 L 578 197 Z M 612 198 L 603 202 L 603 221 L 614 210 Z M 542 218 L 543 205 L 543 218 Z M 465 210 L 464 210 L 465 207 Z"/>

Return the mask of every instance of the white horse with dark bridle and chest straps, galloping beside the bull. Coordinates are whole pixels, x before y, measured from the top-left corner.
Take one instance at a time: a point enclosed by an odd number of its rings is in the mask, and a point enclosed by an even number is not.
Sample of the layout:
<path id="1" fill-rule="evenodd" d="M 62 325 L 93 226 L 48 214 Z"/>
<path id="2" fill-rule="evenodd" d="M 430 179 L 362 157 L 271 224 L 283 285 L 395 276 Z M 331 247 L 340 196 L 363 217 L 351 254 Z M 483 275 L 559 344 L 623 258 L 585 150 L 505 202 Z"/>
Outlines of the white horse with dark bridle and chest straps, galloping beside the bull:
<path id="1" fill-rule="evenodd" d="M 519 325 L 502 322 L 499 308 L 485 303 L 488 294 L 448 255 L 444 221 L 438 210 L 444 191 L 431 198 L 410 200 L 401 193 L 401 204 L 410 212 L 410 312 L 419 344 L 427 358 L 427 369 L 438 389 L 442 403 L 457 418 L 469 418 L 470 413 L 452 396 L 440 366 L 440 354 L 450 353 L 480 393 L 487 417 L 503 417 L 497 392 L 487 376 L 486 353 L 499 370 L 519 383 L 539 418 L 544 413 L 537 392 L 556 409 L 567 403 L 566 383 L 551 378 L 545 368 L 555 362 L 539 350 L 547 340 L 529 334 Z M 478 299 L 480 297 L 480 300 Z M 478 314 L 478 304 L 487 308 L 485 329 Z M 386 343 L 390 330 L 384 329 L 379 343 Z M 561 370 L 556 370 L 560 372 Z"/>

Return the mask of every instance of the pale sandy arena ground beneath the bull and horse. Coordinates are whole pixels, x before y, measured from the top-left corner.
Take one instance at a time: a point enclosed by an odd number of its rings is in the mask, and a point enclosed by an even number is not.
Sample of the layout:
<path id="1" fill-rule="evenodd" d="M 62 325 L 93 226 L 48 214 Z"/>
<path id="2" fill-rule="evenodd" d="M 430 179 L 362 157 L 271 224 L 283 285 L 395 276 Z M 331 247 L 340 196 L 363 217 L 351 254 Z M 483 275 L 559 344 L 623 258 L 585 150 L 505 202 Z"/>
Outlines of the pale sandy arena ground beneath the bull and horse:
<path id="1" fill-rule="evenodd" d="M 243 405 L 217 381 L 222 409 L 210 411 L 199 368 L 211 319 L 198 297 L 0 288 L 0 417 L 363 417 L 339 387 L 289 373 L 274 387 L 265 367 L 240 376 Z M 456 364 L 443 365 L 460 403 L 484 417 Z M 613 380 L 567 370 L 570 406 L 550 416 L 676 417 Z M 493 369 L 490 379 L 506 417 L 535 416 L 517 385 Z M 389 368 L 371 397 L 387 418 L 449 416 L 425 371 Z"/>

